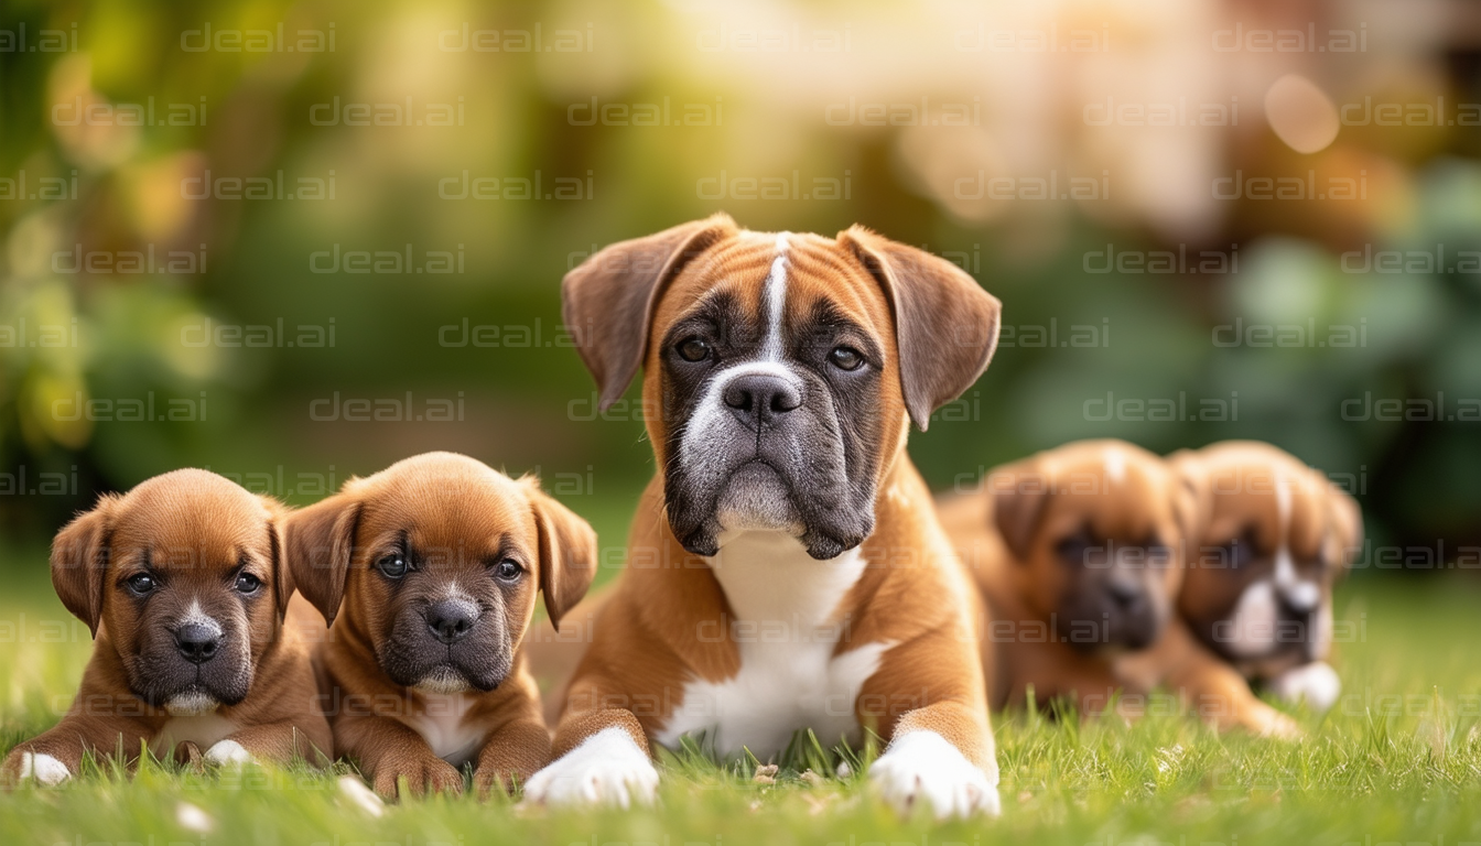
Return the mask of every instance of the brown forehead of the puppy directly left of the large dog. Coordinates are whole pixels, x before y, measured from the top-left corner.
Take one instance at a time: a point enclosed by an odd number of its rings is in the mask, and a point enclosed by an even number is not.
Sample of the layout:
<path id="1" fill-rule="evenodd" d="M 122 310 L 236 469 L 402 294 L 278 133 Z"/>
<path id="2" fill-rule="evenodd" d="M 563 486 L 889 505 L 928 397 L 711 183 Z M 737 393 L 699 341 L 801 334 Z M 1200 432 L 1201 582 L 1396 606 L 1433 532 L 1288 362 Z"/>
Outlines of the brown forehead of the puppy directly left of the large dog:
<path id="1" fill-rule="evenodd" d="M 535 516 L 524 490 L 471 459 L 409 459 L 363 480 L 360 496 L 363 541 L 404 538 L 432 567 L 481 564 L 504 547 L 526 557 L 536 550 Z"/>

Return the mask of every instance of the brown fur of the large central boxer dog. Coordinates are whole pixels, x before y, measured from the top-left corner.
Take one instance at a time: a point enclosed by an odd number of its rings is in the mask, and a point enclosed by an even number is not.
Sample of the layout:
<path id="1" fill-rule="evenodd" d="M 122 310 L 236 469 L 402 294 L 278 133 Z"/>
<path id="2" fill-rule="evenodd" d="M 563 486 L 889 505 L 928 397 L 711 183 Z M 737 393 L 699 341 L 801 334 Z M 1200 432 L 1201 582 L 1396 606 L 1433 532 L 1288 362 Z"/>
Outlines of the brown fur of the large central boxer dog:
<path id="1" fill-rule="evenodd" d="M 604 402 L 619 397 L 644 364 L 646 409 L 666 409 L 659 363 L 665 330 L 703 298 L 730 293 L 758 310 L 775 236 L 740 233 L 721 216 L 607 247 L 566 279 L 567 322 L 601 327 L 582 345 Z M 650 268 L 646 274 L 624 268 Z M 616 292 L 622 292 L 621 295 Z M 926 427 L 939 404 L 986 366 L 998 304 L 948 262 L 862 228 L 837 240 L 791 236 L 785 322 L 828 302 L 884 350 L 878 480 L 868 567 L 835 615 L 852 621 L 835 653 L 896 642 L 865 682 L 855 711 L 886 741 L 930 727 L 977 766 L 995 772 L 974 627 L 983 615 L 936 524 L 929 492 L 905 453 L 911 418 Z M 643 330 L 635 341 L 619 326 Z M 955 345 L 942 341 L 955 339 Z M 945 347 L 952 347 L 946 350 Z M 659 467 L 666 428 L 647 415 Z M 863 422 L 863 421 L 859 421 Z M 591 646 L 563 696 L 558 757 L 601 729 L 619 726 L 641 748 L 680 704 L 684 683 L 735 676 L 740 658 L 726 596 L 705 559 L 689 554 L 665 516 L 663 477 L 643 493 L 628 541 L 629 563 L 595 612 Z M 724 631 L 698 639 L 696 631 Z"/>

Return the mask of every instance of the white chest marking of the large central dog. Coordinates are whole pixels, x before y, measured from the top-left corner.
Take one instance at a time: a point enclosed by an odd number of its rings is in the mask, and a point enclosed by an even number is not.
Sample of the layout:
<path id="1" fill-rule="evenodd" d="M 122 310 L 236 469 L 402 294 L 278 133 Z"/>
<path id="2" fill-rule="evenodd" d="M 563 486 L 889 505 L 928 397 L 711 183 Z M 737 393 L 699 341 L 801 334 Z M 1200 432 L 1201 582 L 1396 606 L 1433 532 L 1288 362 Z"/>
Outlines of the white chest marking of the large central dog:
<path id="1" fill-rule="evenodd" d="M 782 532 L 727 532 L 709 559 L 733 612 L 699 637 L 733 637 L 740 671 L 724 682 L 690 680 L 658 741 L 675 747 L 708 732 L 720 754 L 742 747 L 766 760 L 798 729 L 823 744 L 857 739 L 855 699 L 892 643 L 849 649 L 855 621 L 835 613 L 863 573 L 859 550 L 818 562 Z M 835 655 L 840 643 L 847 652 Z"/>

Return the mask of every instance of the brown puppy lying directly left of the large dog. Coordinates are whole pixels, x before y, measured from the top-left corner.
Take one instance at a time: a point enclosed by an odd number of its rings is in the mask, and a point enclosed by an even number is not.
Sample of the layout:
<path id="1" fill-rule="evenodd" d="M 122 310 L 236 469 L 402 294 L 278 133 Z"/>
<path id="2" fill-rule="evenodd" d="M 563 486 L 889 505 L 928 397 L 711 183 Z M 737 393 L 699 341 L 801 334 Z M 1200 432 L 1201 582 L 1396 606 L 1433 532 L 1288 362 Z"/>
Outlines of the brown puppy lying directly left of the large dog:
<path id="1" fill-rule="evenodd" d="M 407 458 L 289 519 L 299 591 L 329 621 L 315 652 L 335 754 L 376 793 L 480 796 L 549 759 L 518 652 L 545 594 L 552 621 L 586 593 L 597 538 L 581 517 L 449 452 Z"/>

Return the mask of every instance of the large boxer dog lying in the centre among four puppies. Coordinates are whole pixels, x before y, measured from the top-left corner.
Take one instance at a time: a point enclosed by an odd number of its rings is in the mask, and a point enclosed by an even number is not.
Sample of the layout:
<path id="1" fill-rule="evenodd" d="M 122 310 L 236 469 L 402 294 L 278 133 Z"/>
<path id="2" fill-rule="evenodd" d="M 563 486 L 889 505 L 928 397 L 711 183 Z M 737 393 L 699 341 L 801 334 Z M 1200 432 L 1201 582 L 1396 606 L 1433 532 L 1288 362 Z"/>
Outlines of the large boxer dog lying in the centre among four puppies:
<path id="1" fill-rule="evenodd" d="M 644 367 L 661 471 L 526 796 L 649 802 L 650 742 L 764 760 L 869 727 L 895 806 L 995 812 L 980 618 L 905 439 L 986 367 L 998 301 L 859 227 L 724 215 L 609 246 L 563 298 L 604 407 Z"/>

